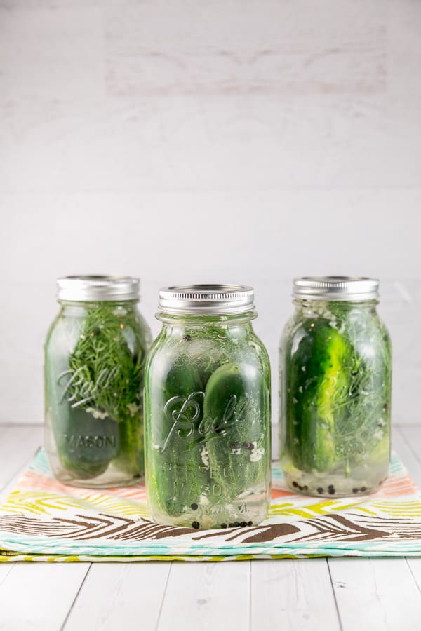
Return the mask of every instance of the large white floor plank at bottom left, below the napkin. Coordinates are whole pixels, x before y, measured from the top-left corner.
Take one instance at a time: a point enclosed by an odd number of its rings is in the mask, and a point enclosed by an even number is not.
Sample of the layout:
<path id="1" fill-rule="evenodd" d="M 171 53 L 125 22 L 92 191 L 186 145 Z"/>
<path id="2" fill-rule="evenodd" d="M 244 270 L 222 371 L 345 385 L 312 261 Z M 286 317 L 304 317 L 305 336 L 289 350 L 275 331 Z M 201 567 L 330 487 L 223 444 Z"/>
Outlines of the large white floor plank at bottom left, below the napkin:
<path id="1" fill-rule="evenodd" d="M 0 628 L 7 631 L 60 629 L 89 565 L 15 563 L 0 585 Z"/>

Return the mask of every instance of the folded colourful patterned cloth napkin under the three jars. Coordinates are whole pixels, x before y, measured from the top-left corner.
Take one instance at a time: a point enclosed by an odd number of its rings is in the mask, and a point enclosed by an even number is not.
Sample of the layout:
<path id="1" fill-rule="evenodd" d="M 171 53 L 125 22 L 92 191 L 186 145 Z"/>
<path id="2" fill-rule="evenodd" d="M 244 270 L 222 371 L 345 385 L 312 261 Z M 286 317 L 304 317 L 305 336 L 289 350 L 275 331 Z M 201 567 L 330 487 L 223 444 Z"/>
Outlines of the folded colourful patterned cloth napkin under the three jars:
<path id="1" fill-rule="evenodd" d="M 421 555 L 421 501 L 396 454 L 377 493 L 312 498 L 272 470 L 260 526 L 198 531 L 154 524 L 145 487 L 76 489 L 53 478 L 44 449 L 0 505 L 0 561 L 224 561 Z"/>

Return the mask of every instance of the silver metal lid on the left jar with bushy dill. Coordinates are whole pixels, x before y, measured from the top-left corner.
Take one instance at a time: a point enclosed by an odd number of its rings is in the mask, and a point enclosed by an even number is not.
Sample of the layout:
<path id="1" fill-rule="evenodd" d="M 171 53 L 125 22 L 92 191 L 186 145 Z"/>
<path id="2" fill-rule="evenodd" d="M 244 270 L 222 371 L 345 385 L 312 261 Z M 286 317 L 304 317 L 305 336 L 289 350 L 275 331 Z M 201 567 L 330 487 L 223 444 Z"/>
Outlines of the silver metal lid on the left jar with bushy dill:
<path id="1" fill-rule="evenodd" d="M 57 279 L 57 285 L 59 300 L 137 300 L 140 280 L 131 276 L 63 276 Z"/>

